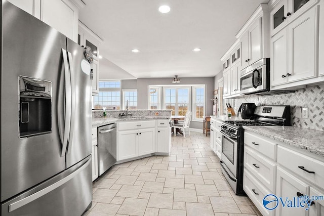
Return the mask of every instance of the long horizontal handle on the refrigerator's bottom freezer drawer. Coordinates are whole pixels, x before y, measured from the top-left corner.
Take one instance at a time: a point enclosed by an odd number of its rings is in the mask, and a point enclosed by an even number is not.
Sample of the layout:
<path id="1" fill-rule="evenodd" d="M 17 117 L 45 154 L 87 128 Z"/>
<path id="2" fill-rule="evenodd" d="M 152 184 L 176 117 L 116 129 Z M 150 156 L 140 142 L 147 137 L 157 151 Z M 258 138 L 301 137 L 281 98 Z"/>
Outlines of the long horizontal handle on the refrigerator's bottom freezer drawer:
<path id="1" fill-rule="evenodd" d="M 9 205 L 9 212 L 14 211 L 24 205 L 27 205 L 28 203 L 34 201 L 35 199 L 38 199 L 39 197 L 42 197 L 44 195 L 46 195 L 47 193 L 55 190 L 56 188 L 64 185 L 65 183 L 67 183 L 68 181 L 70 181 L 71 179 L 73 179 L 76 175 L 78 175 L 82 170 L 84 170 L 91 162 L 91 159 L 89 159 L 84 165 L 82 165 L 80 168 L 78 168 L 77 170 L 75 170 L 74 172 L 72 172 L 72 174 L 70 174 L 69 176 L 61 179 L 60 181 L 54 183 L 53 185 L 44 188 L 43 190 L 40 190 L 30 196 L 27 196 L 17 202 L 14 202 L 12 204 Z"/>

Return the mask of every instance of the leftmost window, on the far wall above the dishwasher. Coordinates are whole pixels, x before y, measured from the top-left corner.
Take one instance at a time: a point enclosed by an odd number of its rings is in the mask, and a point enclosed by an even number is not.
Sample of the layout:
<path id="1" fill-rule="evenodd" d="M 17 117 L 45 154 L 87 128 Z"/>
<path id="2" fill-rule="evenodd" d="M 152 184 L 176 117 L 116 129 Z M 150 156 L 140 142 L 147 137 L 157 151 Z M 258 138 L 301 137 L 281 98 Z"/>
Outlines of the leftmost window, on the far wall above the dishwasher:
<path id="1" fill-rule="evenodd" d="M 99 94 L 93 99 L 94 109 L 120 109 L 120 81 L 99 81 Z"/>

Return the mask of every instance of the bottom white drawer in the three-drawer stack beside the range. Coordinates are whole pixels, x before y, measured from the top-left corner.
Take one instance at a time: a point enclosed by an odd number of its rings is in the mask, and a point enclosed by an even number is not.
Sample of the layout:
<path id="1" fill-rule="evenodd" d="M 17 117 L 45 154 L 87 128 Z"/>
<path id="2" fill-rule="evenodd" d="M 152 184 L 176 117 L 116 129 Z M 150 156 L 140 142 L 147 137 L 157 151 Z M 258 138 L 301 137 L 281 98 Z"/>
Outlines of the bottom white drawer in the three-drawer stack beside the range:
<path id="1" fill-rule="evenodd" d="M 255 206 L 259 209 L 262 215 L 274 215 L 275 211 L 269 211 L 263 206 L 263 198 L 271 194 L 270 191 L 266 190 L 258 181 L 246 170 L 243 173 L 243 189 L 253 201 Z M 274 207 L 274 203 L 268 204 L 267 207 Z"/>

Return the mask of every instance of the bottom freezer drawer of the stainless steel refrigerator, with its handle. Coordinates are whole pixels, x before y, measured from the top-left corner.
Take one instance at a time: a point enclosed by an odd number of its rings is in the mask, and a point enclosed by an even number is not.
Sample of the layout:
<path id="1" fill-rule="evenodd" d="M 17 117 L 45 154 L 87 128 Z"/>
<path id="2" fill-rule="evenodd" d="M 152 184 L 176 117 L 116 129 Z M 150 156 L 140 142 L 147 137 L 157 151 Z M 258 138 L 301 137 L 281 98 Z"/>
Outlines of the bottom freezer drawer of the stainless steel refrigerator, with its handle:
<path id="1" fill-rule="evenodd" d="M 1 215 L 80 216 L 92 203 L 92 158 L 2 204 Z"/>

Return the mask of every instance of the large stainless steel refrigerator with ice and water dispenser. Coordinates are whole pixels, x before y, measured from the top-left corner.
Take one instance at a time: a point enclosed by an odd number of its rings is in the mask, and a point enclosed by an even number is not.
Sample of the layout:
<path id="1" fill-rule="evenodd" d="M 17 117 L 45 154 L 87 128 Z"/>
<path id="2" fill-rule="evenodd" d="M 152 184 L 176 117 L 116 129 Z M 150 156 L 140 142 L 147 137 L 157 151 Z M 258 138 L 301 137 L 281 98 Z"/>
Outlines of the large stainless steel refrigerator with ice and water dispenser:
<path id="1" fill-rule="evenodd" d="M 82 215 L 92 203 L 84 49 L 2 1 L 1 215 Z"/>

